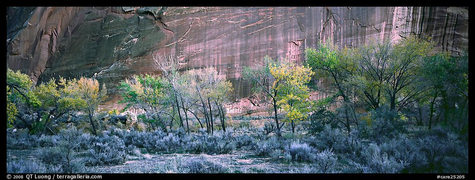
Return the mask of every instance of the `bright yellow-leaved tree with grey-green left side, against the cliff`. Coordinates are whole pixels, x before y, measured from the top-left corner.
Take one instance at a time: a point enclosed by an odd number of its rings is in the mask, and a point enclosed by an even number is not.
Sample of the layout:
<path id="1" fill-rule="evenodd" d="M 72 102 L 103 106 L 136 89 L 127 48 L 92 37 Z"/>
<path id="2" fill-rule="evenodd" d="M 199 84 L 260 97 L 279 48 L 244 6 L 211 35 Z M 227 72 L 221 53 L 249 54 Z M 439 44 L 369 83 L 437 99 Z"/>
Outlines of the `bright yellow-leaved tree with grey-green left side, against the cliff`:
<path id="1" fill-rule="evenodd" d="M 243 77 L 254 85 L 255 92 L 264 92 L 270 98 L 274 111 L 276 134 L 281 136 L 282 125 L 278 110 L 285 113 L 282 123 L 290 122 L 292 132 L 295 122 L 306 119 L 311 102 L 308 101 L 310 81 L 313 71 L 309 67 L 264 57 L 263 65 L 244 67 Z"/>

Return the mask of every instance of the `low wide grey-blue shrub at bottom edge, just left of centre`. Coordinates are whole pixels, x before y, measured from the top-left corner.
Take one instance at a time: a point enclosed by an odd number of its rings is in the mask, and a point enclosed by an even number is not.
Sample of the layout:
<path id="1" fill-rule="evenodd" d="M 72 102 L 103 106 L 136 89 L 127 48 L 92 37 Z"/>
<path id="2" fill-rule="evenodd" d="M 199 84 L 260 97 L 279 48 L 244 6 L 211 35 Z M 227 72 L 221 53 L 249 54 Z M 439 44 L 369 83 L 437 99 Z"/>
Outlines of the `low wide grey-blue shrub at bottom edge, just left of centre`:
<path id="1" fill-rule="evenodd" d="M 227 173 L 229 170 L 221 163 L 207 161 L 205 158 L 193 158 L 184 165 L 190 173 Z"/>

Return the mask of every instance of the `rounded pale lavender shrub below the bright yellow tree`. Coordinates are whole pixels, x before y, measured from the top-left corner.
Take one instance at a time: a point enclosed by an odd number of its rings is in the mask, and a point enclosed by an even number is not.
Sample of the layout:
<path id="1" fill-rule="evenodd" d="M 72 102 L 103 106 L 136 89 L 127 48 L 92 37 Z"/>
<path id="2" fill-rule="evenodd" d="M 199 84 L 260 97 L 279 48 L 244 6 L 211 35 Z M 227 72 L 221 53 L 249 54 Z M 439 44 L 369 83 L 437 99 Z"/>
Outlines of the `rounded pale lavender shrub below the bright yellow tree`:
<path id="1" fill-rule="evenodd" d="M 315 149 L 306 143 L 293 142 L 287 150 L 294 161 L 313 162 Z"/>

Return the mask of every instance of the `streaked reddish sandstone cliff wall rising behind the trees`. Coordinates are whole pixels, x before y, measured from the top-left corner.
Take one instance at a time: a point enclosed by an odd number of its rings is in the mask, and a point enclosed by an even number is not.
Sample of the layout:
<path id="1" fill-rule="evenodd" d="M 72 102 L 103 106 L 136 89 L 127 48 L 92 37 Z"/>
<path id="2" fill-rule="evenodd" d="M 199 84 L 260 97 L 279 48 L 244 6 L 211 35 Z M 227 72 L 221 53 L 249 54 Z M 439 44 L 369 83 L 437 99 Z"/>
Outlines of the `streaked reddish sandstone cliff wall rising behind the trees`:
<path id="1" fill-rule="evenodd" d="M 127 11 L 127 12 L 126 12 Z M 265 55 L 303 62 L 303 51 L 332 39 L 432 37 L 454 55 L 468 50 L 468 8 L 457 7 L 37 7 L 7 8 L 7 68 L 35 81 L 95 76 L 114 104 L 119 81 L 160 73 L 152 53 L 174 53 L 185 68 L 216 67 L 248 96 L 243 66 Z M 10 38 L 10 39 L 8 39 Z"/>

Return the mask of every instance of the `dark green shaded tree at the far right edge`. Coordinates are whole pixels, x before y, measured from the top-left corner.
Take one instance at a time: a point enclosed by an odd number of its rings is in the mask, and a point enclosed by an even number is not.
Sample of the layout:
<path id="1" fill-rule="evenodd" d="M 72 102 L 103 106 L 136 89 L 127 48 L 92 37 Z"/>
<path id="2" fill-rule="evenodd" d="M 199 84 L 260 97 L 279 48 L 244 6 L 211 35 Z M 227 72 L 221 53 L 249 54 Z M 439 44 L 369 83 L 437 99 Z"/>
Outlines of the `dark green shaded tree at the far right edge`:
<path id="1" fill-rule="evenodd" d="M 449 52 L 440 52 L 426 57 L 423 60 L 421 75 L 424 85 L 429 87 L 423 94 L 429 97 L 425 98 L 425 101 L 429 103 L 429 129 L 432 127 L 433 113 L 436 111 L 434 106 L 439 97 L 442 98 L 442 109 L 437 115 L 436 122 L 442 112 L 444 123 L 450 118 L 450 114 L 452 120 L 454 116 L 463 119 L 468 115 L 468 53 L 464 53 L 462 56 L 450 56 Z M 452 108 L 450 108 L 449 102 L 452 103 Z M 460 107 L 456 107 L 456 104 L 460 104 Z M 459 109 L 460 112 L 456 113 L 456 109 Z"/>

